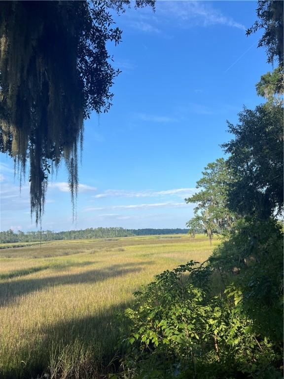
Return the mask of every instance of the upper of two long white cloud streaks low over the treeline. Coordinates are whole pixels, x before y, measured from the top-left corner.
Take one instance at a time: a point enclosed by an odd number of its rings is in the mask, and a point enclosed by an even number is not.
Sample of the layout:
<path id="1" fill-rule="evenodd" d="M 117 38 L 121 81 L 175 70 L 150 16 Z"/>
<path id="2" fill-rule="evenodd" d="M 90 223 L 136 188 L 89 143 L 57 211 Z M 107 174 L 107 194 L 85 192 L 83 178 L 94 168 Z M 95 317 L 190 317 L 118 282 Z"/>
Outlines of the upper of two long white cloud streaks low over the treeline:
<path id="1" fill-rule="evenodd" d="M 162 191 L 129 191 L 125 189 L 107 189 L 105 192 L 98 193 L 92 197 L 98 199 L 102 197 L 161 197 L 161 196 L 171 196 L 171 195 L 182 195 L 190 196 L 196 193 L 196 188 L 177 188 L 177 189 L 166 189 Z"/>

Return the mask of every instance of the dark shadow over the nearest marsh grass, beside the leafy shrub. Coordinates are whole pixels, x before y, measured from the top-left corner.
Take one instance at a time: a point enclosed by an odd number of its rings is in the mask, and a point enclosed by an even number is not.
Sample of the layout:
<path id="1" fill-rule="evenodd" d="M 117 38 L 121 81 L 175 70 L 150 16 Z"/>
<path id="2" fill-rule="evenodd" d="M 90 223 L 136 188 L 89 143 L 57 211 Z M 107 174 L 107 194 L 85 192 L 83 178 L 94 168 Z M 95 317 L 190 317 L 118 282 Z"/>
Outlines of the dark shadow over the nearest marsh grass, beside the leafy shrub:
<path id="1" fill-rule="evenodd" d="M 65 319 L 35 330 L 36 344 L 25 341 L 20 357 L 15 356 L 8 366 L 0 366 L 0 378 L 43 379 L 44 374 L 57 379 L 106 378 L 119 367 L 117 359 L 109 363 L 117 356 L 117 344 L 127 330 L 126 319 L 117 317 L 117 313 L 128 306 L 131 302 L 111 305 L 94 315 Z"/>

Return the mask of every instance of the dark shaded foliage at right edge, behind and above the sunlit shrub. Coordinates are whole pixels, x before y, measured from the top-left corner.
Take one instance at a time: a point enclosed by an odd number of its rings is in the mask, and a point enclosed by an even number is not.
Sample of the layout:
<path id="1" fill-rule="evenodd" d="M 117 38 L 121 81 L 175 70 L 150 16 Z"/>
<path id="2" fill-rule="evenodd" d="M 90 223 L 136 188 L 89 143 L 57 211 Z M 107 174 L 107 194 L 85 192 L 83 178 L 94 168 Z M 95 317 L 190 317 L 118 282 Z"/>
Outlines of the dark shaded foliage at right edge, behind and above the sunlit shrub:
<path id="1" fill-rule="evenodd" d="M 210 258 L 229 286 L 227 292 L 235 296 L 234 289 L 241 291 L 239 310 L 253 320 L 255 332 L 278 347 L 283 341 L 281 229 L 272 219 L 241 219 Z"/>

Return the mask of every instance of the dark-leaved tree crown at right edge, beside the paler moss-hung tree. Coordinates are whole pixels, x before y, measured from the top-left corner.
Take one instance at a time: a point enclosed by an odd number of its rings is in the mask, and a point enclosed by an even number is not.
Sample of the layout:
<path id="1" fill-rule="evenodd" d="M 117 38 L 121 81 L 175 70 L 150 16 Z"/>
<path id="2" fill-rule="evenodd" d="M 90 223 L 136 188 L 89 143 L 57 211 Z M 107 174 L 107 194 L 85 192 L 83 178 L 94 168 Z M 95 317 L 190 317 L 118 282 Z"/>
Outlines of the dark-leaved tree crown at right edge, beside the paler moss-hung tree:
<path id="1" fill-rule="evenodd" d="M 223 144 L 235 180 L 228 202 L 241 215 L 269 218 L 283 210 L 283 108 L 260 105 L 244 109 L 239 123 L 228 122 L 235 138 Z"/>

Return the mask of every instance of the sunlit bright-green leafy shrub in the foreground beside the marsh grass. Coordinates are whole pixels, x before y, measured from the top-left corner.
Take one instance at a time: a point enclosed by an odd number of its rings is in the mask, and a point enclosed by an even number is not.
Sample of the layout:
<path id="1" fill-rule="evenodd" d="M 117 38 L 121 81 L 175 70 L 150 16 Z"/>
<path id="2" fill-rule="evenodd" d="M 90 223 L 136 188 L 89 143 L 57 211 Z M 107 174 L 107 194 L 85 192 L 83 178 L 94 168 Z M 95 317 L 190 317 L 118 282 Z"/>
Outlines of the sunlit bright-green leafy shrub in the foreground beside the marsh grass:
<path id="1" fill-rule="evenodd" d="M 212 296 L 212 269 L 190 261 L 135 293 L 125 311 L 130 331 L 122 345 L 124 376 L 170 378 L 281 378 L 271 341 L 254 333 L 238 296 Z M 233 295 L 234 296 L 233 296 Z"/>

